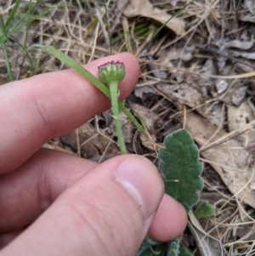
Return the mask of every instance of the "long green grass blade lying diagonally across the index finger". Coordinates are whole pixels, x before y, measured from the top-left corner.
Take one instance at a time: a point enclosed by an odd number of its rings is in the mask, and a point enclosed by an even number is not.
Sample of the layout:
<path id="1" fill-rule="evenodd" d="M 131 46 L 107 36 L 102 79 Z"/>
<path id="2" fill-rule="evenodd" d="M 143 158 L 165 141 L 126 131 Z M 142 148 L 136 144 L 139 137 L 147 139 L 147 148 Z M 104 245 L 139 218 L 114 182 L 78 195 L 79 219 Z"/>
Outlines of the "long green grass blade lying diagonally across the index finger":
<path id="1" fill-rule="evenodd" d="M 48 52 L 48 54 L 53 55 L 55 58 L 63 61 L 65 65 L 68 65 L 75 71 L 77 71 L 79 74 L 82 75 L 82 77 L 85 77 L 89 82 L 94 84 L 96 88 L 98 88 L 103 94 L 105 94 L 109 99 L 111 99 L 111 94 L 109 89 L 105 86 L 103 82 L 101 82 L 97 77 L 94 77 L 89 71 L 87 71 L 82 65 L 78 64 L 75 60 L 72 60 L 69 56 L 63 54 L 58 49 L 52 47 L 52 46 L 45 46 L 45 45 L 33 45 L 28 49 L 33 48 L 41 48 L 44 51 Z M 138 128 L 139 132 L 146 135 L 144 128 L 139 124 L 139 122 L 133 117 L 133 115 L 127 110 L 127 108 L 122 104 L 122 102 L 118 102 L 119 109 L 129 118 L 131 122 L 133 122 L 134 126 Z"/>

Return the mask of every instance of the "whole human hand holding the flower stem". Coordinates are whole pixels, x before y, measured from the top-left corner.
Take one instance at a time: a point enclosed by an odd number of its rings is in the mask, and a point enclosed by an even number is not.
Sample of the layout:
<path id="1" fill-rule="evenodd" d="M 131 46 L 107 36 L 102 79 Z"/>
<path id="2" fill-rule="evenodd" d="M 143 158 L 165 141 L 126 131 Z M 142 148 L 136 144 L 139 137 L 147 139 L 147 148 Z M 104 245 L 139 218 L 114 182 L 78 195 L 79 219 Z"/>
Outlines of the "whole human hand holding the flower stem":
<path id="1" fill-rule="evenodd" d="M 121 99 L 133 90 L 139 64 L 126 65 Z M 164 195 L 154 165 L 141 156 L 101 164 L 42 145 L 110 108 L 111 102 L 76 71 L 42 74 L 0 87 L 1 255 L 134 255 L 149 230 L 168 241 L 187 223 L 184 208 Z M 156 215 L 155 215 L 156 214 Z M 28 227 L 27 227 L 28 226 Z M 8 245 L 6 245 L 8 244 Z"/>

